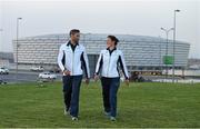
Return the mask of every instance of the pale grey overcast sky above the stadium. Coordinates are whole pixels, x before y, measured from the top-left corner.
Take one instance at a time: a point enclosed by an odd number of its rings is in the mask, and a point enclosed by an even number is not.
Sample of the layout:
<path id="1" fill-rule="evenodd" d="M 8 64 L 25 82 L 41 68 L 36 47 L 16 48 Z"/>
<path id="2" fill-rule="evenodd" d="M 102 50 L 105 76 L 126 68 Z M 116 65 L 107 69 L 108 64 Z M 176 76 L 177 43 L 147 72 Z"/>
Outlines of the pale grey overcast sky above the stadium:
<path id="1" fill-rule="evenodd" d="M 173 26 L 177 39 L 191 44 L 190 58 L 200 58 L 200 0 L 0 0 L 0 51 L 12 51 L 17 18 L 20 37 L 68 33 L 124 33 L 166 38 Z M 172 39 L 172 32 L 170 33 Z"/>

